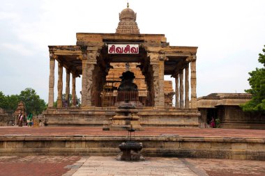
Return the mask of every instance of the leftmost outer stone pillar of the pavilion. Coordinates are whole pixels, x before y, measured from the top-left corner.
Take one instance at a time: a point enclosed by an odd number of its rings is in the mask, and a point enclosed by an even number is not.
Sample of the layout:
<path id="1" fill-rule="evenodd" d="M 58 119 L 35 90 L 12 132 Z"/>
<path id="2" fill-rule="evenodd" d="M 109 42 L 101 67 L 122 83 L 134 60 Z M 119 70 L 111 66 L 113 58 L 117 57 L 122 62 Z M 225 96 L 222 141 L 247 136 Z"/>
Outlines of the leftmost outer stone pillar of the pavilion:
<path id="1" fill-rule="evenodd" d="M 57 56 L 50 56 L 50 78 L 49 78 L 49 100 L 48 100 L 48 107 L 54 106 L 54 65 L 55 65 L 55 58 Z"/>

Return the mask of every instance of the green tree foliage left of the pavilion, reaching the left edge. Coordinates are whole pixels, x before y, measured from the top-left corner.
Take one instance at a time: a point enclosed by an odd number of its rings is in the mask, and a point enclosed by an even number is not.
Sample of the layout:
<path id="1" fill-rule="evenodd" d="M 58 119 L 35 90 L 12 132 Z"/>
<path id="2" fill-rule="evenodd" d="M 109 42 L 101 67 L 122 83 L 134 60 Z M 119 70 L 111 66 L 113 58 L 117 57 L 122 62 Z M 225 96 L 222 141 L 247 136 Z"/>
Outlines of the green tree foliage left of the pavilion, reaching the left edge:
<path id="1" fill-rule="evenodd" d="M 24 102 L 27 113 L 32 112 L 38 115 L 47 108 L 47 104 L 32 88 L 22 90 L 20 95 L 6 96 L 0 91 L 0 107 L 2 109 L 15 111 L 20 101 Z"/>

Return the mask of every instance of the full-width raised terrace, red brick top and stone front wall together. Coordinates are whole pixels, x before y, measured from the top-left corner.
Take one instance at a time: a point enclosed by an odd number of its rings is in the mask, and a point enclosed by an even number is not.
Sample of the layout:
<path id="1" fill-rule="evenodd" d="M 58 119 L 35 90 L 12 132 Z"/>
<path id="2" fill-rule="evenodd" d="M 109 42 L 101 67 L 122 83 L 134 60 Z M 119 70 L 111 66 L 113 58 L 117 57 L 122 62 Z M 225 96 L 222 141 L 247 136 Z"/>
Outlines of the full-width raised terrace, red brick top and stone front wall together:
<path id="1" fill-rule="evenodd" d="M 1 127 L 0 154 L 115 156 L 127 131 L 102 127 Z M 135 132 L 146 157 L 265 160 L 265 131 L 145 127 Z"/>

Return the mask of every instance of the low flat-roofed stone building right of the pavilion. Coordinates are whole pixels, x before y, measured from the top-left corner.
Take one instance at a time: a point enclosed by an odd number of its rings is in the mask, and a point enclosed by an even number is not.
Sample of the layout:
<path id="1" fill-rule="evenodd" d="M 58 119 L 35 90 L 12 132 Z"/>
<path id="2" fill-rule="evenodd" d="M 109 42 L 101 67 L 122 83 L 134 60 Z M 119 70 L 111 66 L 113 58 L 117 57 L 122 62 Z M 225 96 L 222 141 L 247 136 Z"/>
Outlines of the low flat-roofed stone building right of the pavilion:
<path id="1" fill-rule="evenodd" d="M 212 118 L 220 128 L 265 129 L 265 116 L 258 112 L 244 112 L 240 105 L 250 101 L 249 93 L 211 93 L 197 99 L 201 112 L 199 127 L 209 127 Z"/>

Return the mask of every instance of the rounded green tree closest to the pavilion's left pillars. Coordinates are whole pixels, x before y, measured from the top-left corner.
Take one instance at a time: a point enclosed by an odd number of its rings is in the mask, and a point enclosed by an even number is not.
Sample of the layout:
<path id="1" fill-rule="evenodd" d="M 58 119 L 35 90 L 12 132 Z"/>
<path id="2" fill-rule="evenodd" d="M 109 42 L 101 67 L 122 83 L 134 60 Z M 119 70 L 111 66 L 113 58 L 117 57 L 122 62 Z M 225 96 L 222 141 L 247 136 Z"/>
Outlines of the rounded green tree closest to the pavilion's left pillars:
<path id="1" fill-rule="evenodd" d="M 36 94 L 36 91 L 32 88 L 26 88 L 22 90 L 19 98 L 25 104 L 26 112 L 33 114 L 40 114 L 47 108 L 45 101 L 40 99 L 40 96 Z"/>

